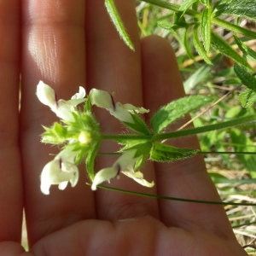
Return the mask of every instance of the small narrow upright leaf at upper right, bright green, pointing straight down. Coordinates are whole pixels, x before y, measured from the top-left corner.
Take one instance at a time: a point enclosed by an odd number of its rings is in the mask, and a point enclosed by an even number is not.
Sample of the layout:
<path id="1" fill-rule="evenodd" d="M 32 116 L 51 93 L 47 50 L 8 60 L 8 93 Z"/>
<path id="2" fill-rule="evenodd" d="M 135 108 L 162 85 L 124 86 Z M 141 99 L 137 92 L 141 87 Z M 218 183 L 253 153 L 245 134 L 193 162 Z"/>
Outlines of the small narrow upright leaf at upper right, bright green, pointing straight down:
<path id="1" fill-rule="evenodd" d="M 207 53 L 211 47 L 211 25 L 212 25 L 212 9 L 208 7 L 203 10 L 201 16 L 201 38 Z"/>

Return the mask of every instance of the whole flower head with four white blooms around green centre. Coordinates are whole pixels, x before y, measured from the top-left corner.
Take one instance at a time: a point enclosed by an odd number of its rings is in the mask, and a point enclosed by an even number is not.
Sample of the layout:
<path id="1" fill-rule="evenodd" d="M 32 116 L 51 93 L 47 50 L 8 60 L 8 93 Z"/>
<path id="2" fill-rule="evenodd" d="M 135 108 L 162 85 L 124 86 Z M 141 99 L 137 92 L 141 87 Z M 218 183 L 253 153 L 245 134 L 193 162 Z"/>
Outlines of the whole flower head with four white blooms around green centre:
<path id="1" fill-rule="evenodd" d="M 104 90 L 92 89 L 86 96 L 83 87 L 79 87 L 79 93 L 76 93 L 68 101 L 56 100 L 55 90 L 49 85 L 40 81 L 37 87 L 36 95 L 40 102 L 49 108 L 61 119 L 61 124 L 55 123 L 52 127 L 44 127 L 43 142 L 47 143 L 66 143 L 54 160 L 51 160 L 44 166 L 41 173 L 41 191 L 49 194 L 49 188 L 52 184 L 57 184 L 59 189 L 65 189 L 67 183 L 74 187 L 79 181 L 79 169 L 77 164 L 83 158 L 86 158 L 87 172 L 92 179 L 91 189 L 113 177 L 118 177 L 122 172 L 126 176 L 133 178 L 137 183 L 143 186 L 152 187 L 154 182 L 148 183 L 143 179 L 143 173 L 138 172 L 135 165 L 140 157 L 137 156 L 137 149 L 127 149 L 113 166 L 104 168 L 96 175 L 90 171 L 95 152 L 101 143 L 101 134 L 99 125 L 91 113 L 90 105 L 99 108 L 106 108 L 116 119 L 124 124 L 134 124 L 137 113 L 147 113 L 145 108 L 136 108 L 131 104 L 121 104 L 114 102 L 113 97 Z M 79 111 L 78 105 L 84 104 L 84 110 Z M 87 104 L 89 102 L 89 104 Z M 94 170 L 93 170 L 94 171 Z"/>

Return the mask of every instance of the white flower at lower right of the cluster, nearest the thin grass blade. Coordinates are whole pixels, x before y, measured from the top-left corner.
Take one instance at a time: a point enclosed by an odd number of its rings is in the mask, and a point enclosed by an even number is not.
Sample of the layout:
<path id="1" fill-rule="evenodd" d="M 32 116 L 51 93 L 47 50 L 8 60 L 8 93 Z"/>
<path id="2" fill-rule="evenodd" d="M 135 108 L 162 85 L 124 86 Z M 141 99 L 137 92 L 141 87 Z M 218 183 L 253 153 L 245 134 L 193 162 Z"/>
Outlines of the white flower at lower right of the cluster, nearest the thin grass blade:
<path id="1" fill-rule="evenodd" d="M 145 187 L 153 187 L 154 182 L 148 183 L 145 179 L 143 179 L 142 172 L 134 171 L 134 165 L 138 159 L 138 157 L 135 157 L 136 151 L 136 149 L 125 151 L 125 153 L 113 163 L 113 166 L 104 168 L 100 172 L 97 172 L 91 185 L 91 189 L 96 190 L 97 185 L 105 181 L 109 182 L 111 178 L 117 177 L 119 172 L 124 173 L 127 177 L 131 177 L 137 183 L 140 183 Z"/>

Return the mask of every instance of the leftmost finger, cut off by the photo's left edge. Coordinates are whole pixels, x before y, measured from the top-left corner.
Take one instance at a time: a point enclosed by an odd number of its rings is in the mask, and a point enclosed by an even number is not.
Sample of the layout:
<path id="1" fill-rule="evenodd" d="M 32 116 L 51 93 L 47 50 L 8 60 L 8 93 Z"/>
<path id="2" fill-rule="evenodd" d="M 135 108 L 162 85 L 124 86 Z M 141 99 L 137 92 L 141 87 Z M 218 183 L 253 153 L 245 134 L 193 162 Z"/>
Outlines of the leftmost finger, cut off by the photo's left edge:
<path id="1" fill-rule="evenodd" d="M 22 177 L 19 150 L 19 1 L 0 3 L 0 241 L 20 241 Z"/>

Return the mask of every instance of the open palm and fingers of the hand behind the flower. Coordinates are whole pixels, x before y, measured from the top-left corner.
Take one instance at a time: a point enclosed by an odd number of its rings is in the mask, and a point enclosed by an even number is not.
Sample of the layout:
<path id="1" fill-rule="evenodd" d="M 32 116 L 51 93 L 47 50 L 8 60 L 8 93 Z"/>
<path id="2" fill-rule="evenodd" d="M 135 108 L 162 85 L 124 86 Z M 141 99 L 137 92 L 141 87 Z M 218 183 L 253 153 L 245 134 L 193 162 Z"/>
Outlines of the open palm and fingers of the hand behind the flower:
<path id="1" fill-rule="evenodd" d="M 117 101 L 150 108 L 150 113 L 184 96 L 170 45 L 158 37 L 140 41 L 134 3 L 116 3 L 135 52 L 119 39 L 102 0 L 0 3 L 0 38 L 4 38 L 0 44 L 1 255 L 247 255 L 223 207 L 157 201 L 104 189 L 93 192 L 85 185 L 83 168 L 75 188 L 61 191 L 53 186 L 50 195 L 41 193 L 40 172 L 52 159 L 49 153 L 58 149 L 39 142 L 41 125 L 56 120 L 35 96 L 39 80 L 52 86 L 58 98 L 69 99 L 81 85 L 87 92 L 90 88 L 114 91 Z M 102 132 L 120 131 L 119 123 L 105 110 L 96 110 L 96 115 Z M 198 148 L 195 137 L 175 140 L 172 145 Z M 108 152 L 115 149 L 112 143 L 102 145 Z M 101 157 L 96 169 L 112 163 L 111 157 Z M 148 162 L 143 172 L 148 181 L 155 181 L 153 189 L 125 176 L 113 179 L 111 186 L 219 200 L 199 156 L 172 164 Z M 29 253 L 20 246 L 22 207 Z"/>

